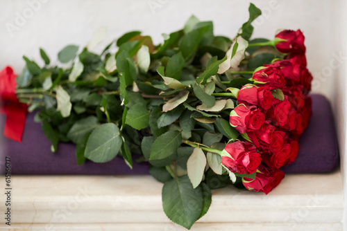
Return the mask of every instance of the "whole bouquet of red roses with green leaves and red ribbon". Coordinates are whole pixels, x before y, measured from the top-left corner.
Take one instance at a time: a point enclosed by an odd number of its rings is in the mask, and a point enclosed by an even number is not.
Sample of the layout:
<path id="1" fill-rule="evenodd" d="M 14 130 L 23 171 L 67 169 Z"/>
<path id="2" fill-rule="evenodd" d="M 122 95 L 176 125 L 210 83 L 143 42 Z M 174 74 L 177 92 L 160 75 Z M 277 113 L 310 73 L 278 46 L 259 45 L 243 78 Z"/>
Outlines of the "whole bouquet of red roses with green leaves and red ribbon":
<path id="1" fill-rule="evenodd" d="M 208 212 L 211 189 L 235 183 L 268 194 L 298 155 L 312 75 L 303 33 L 251 40 L 261 11 L 248 11 L 233 39 L 191 17 L 163 44 L 132 31 L 101 54 L 66 46 L 56 66 L 42 49 L 44 66 L 24 57 L 18 77 L 11 68 L 0 73 L 6 136 L 20 140 L 28 106 L 51 151 L 76 144 L 77 165 L 117 155 L 130 168 L 133 159 L 148 162 L 164 183 L 165 214 L 185 228 Z"/>

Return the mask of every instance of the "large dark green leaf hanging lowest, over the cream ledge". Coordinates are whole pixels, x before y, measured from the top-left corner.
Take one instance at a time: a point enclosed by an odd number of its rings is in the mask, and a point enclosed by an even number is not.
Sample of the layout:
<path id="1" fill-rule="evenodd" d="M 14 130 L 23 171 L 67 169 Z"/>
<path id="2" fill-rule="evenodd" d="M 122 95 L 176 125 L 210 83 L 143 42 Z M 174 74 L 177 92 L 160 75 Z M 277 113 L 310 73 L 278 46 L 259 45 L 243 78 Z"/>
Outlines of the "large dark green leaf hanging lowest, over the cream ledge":
<path id="1" fill-rule="evenodd" d="M 187 176 L 165 182 L 162 187 L 162 207 L 171 221 L 190 229 L 203 210 L 201 187 L 194 189 Z"/>

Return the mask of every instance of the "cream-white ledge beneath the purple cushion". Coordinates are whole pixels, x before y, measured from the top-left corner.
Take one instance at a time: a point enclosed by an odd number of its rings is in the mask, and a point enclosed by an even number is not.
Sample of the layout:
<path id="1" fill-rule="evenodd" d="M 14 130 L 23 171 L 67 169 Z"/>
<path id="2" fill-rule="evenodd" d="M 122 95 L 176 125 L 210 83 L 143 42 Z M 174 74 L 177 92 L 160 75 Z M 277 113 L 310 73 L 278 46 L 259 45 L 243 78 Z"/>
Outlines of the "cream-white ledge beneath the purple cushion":
<path id="1" fill-rule="evenodd" d="M 165 216 L 161 190 L 151 176 L 12 176 L 11 228 L 185 230 Z M 287 175 L 268 195 L 213 190 L 192 230 L 342 230 L 343 210 L 339 171 Z M 8 228 L 2 216 L 0 227 Z"/>

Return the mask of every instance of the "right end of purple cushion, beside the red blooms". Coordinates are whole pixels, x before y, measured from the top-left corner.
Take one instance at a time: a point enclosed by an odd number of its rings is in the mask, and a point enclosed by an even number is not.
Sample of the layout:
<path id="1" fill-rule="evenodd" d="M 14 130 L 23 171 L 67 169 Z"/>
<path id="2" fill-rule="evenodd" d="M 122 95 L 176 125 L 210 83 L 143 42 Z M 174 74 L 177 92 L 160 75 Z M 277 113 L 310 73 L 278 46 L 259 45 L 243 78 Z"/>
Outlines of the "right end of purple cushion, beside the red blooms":
<path id="1" fill-rule="evenodd" d="M 332 172 L 339 165 L 339 147 L 334 115 L 329 101 L 312 94 L 312 117 L 299 140 L 300 150 L 294 163 L 282 167 L 285 173 Z"/>

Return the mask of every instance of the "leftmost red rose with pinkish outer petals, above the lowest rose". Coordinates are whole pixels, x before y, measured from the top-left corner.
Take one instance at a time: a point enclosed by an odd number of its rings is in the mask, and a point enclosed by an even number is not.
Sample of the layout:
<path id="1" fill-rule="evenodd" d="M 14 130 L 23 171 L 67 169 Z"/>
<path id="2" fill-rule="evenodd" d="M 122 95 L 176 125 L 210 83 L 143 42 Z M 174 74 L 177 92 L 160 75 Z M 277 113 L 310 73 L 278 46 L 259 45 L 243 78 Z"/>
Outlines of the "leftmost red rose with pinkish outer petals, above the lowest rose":
<path id="1" fill-rule="evenodd" d="M 262 163 L 262 157 L 255 147 L 247 142 L 232 142 L 226 145 L 221 163 L 231 172 L 252 174 Z"/>

